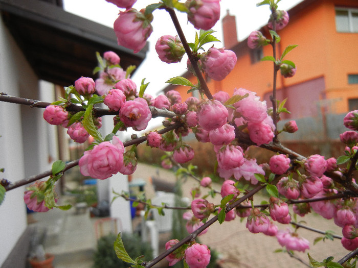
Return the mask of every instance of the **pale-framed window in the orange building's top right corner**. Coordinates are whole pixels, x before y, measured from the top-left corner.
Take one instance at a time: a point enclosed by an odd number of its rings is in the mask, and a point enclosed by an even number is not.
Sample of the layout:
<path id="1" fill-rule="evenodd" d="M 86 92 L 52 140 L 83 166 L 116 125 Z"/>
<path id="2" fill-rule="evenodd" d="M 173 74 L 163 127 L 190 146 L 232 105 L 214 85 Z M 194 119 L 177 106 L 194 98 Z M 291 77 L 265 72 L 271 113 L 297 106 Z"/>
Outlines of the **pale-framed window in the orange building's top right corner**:
<path id="1" fill-rule="evenodd" d="M 358 33 L 358 9 L 336 8 L 335 28 L 337 32 Z"/>

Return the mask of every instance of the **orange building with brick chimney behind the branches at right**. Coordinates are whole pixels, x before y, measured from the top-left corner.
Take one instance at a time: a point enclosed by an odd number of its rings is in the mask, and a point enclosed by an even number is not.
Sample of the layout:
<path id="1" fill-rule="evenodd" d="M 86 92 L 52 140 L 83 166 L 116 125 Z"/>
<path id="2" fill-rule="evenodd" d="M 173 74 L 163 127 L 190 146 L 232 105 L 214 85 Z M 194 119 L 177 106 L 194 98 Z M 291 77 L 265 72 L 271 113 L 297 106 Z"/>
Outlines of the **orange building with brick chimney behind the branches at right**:
<path id="1" fill-rule="evenodd" d="M 316 116 L 320 109 L 328 113 L 345 113 L 358 109 L 358 1 L 304 0 L 287 11 L 288 25 L 278 31 L 278 55 L 289 44 L 298 44 L 285 59 L 296 64 L 292 78 L 278 74 L 277 99 L 288 98 L 285 107 L 292 112 L 286 118 Z M 269 38 L 267 26 L 260 31 Z M 260 61 L 272 56 L 272 46 L 251 50 L 247 39 L 238 42 L 235 17 L 223 18 L 224 44 L 237 55 L 237 64 L 222 81 L 208 81 L 210 90 L 230 95 L 235 88 L 257 92 L 270 105 L 273 63 Z M 186 72 L 184 77 L 196 79 Z M 188 87 L 168 86 L 164 90 L 181 92 L 183 100 Z"/>

